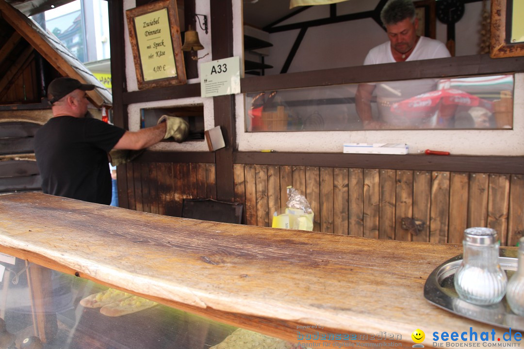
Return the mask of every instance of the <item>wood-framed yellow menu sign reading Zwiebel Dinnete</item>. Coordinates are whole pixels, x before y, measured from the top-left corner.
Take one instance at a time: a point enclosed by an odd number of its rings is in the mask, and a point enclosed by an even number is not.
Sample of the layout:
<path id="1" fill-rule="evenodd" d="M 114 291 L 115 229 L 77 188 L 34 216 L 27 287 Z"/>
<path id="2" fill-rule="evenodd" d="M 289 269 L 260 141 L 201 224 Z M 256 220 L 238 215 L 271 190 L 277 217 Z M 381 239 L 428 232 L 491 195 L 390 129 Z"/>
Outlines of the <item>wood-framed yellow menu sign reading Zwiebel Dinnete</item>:
<path id="1" fill-rule="evenodd" d="M 185 84 L 176 0 L 126 11 L 138 88 Z"/>

